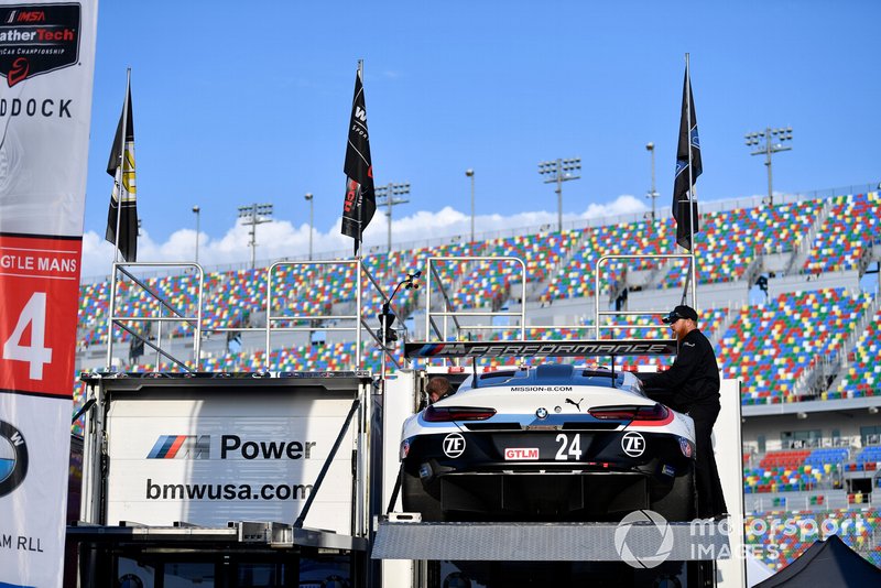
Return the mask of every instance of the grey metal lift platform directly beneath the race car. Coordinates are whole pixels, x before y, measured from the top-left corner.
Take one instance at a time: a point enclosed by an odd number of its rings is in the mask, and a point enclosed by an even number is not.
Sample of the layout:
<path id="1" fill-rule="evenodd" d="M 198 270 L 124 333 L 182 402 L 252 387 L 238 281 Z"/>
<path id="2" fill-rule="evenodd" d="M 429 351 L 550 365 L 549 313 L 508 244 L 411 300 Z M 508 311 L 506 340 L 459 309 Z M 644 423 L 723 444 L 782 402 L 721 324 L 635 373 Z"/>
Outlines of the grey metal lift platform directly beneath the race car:
<path id="1" fill-rule="evenodd" d="M 381 521 L 373 559 L 677 562 L 731 556 L 727 522 L 413 523 Z"/>

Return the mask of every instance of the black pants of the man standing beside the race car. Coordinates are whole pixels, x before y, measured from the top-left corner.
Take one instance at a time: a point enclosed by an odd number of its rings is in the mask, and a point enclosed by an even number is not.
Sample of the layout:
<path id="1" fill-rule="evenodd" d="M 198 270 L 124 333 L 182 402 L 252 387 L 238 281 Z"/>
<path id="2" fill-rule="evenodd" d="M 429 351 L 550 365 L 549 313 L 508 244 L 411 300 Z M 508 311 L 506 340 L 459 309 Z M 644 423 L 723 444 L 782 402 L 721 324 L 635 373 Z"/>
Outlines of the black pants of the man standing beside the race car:
<path id="1" fill-rule="evenodd" d="M 713 425 L 719 416 L 719 410 L 721 406 L 718 402 L 696 404 L 688 409 L 688 415 L 695 422 L 697 515 L 700 519 L 728 512 L 713 453 Z"/>

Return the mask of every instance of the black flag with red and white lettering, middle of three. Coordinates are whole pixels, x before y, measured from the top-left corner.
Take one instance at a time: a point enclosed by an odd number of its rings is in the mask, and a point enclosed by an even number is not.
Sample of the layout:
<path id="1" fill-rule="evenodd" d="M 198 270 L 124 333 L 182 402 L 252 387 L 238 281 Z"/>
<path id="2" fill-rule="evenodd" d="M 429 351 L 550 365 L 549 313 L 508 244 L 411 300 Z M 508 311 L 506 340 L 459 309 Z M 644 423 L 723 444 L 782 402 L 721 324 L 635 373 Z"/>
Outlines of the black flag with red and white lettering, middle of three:
<path id="1" fill-rule="evenodd" d="M 361 70 L 355 76 L 355 98 L 351 101 L 349 144 L 346 148 L 346 199 L 342 203 L 342 235 L 355 239 L 355 254 L 361 236 L 377 211 L 373 193 L 373 165 L 370 162 L 370 137 L 367 133 L 367 107 Z"/>

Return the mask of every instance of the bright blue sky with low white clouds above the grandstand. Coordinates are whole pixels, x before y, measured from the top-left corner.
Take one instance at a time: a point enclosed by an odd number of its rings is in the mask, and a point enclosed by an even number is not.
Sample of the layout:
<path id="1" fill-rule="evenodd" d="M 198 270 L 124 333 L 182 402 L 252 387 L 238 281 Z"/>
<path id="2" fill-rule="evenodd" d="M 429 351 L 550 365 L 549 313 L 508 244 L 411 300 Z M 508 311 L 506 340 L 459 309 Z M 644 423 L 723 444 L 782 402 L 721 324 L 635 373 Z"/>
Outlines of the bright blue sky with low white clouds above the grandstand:
<path id="1" fill-rule="evenodd" d="M 374 6 L 378 4 L 378 6 Z M 141 261 L 250 258 L 240 205 L 271 203 L 258 258 L 316 251 L 339 236 L 355 69 L 378 185 L 410 182 L 394 240 L 555 222 L 537 163 L 580 156 L 564 186 L 577 220 L 660 206 L 673 185 L 684 54 L 690 53 L 704 175 L 698 199 L 763 194 L 743 134 L 792 126 L 774 188 L 881 181 L 877 2 L 113 2 L 99 7 L 84 276 L 106 273 L 105 173 L 132 68 Z M 709 6 L 713 4 L 713 6 Z M 378 214 L 369 243 L 385 243 Z"/>

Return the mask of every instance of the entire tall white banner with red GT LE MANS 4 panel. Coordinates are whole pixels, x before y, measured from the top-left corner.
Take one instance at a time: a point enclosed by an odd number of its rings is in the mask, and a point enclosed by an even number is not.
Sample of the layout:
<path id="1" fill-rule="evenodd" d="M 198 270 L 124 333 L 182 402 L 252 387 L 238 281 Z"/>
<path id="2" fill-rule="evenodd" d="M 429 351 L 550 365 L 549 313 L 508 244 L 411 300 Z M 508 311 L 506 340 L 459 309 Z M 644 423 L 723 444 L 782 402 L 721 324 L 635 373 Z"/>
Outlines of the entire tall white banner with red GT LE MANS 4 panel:
<path id="1" fill-rule="evenodd" d="M 0 586 L 62 585 L 97 0 L 0 0 Z"/>

